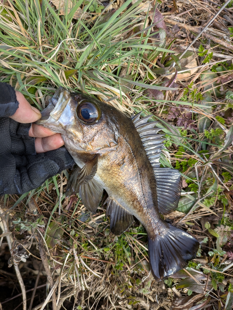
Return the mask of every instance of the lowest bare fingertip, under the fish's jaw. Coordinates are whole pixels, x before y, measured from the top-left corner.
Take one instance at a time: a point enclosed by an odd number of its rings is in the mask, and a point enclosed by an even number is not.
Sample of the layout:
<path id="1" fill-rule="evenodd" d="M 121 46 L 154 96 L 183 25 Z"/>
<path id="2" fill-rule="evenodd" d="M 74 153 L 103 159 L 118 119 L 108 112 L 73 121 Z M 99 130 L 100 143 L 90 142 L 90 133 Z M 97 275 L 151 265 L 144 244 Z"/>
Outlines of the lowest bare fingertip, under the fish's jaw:
<path id="1" fill-rule="evenodd" d="M 59 133 L 49 137 L 35 139 L 36 153 L 52 151 L 56 148 L 60 148 L 62 145 L 64 145 L 64 141 Z"/>

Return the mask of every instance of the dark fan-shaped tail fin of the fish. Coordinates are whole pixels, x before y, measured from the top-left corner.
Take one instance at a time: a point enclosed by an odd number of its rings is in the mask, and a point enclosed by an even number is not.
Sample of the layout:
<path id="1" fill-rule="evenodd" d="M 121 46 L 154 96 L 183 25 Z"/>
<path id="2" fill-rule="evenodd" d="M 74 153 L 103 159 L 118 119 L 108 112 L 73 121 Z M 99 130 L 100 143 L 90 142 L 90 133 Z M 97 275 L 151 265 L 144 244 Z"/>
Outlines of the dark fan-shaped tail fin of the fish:
<path id="1" fill-rule="evenodd" d="M 148 236 L 150 270 L 155 280 L 169 277 L 195 257 L 199 242 L 187 232 L 168 224 L 156 236 Z"/>

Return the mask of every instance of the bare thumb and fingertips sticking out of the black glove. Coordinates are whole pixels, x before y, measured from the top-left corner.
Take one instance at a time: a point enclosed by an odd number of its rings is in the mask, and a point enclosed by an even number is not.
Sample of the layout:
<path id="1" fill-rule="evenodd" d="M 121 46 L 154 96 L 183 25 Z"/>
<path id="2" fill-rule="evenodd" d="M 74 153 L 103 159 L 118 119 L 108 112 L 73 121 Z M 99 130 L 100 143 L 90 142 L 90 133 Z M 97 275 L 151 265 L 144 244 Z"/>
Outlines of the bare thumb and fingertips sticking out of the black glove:
<path id="1" fill-rule="evenodd" d="M 41 113 L 37 108 L 32 107 L 25 99 L 24 95 L 16 91 L 16 98 L 19 102 L 19 107 L 16 113 L 10 116 L 13 120 L 19 123 L 33 123 L 41 118 Z M 29 137 L 35 137 L 36 153 L 44 153 L 55 150 L 64 145 L 61 134 L 55 133 L 48 128 L 40 125 L 32 124 L 29 130 Z"/>

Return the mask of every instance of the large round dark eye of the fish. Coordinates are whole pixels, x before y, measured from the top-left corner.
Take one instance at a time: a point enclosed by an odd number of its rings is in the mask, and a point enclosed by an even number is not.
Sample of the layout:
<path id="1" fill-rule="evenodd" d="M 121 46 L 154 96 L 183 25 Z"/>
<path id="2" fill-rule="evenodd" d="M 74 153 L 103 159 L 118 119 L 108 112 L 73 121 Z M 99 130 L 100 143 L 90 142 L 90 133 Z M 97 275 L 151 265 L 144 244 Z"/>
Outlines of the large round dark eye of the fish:
<path id="1" fill-rule="evenodd" d="M 85 124 L 97 123 L 101 117 L 100 108 L 93 102 L 82 101 L 76 108 L 79 120 Z"/>

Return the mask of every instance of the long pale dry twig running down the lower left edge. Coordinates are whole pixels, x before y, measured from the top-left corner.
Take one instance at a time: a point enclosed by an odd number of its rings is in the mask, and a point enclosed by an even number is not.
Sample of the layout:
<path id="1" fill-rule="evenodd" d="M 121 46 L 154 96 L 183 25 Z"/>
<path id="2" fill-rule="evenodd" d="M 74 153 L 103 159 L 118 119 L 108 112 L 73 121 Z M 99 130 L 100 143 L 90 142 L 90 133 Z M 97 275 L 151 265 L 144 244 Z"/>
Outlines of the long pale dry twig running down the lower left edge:
<path id="1" fill-rule="evenodd" d="M 2 215 L 2 213 L 3 213 L 3 211 L 2 211 L 2 208 L 0 206 L 0 214 Z M 0 222 L 0 227 L 1 227 L 3 233 L 9 231 L 9 229 L 7 227 L 7 223 L 3 217 L 2 217 L 2 220 Z M 7 238 L 9 250 L 11 250 L 11 244 L 13 242 L 12 235 L 8 235 L 8 236 L 6 236 L 6 238 Z M 21 291 L 22 291 L 23 310 L 26 310 L 27 309 L 27 297 L 26 297 L 26 290 L 25 290 L 25 286 L 24 286 L 24 281 L 21 277 L 19 266 L 17 264 L 16 265 L 14 264 L 14 268 L 15 268 L 16 276 L 17 276 L 19 284 L 20 284 Z"/>

